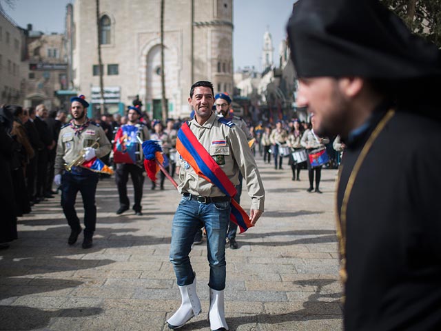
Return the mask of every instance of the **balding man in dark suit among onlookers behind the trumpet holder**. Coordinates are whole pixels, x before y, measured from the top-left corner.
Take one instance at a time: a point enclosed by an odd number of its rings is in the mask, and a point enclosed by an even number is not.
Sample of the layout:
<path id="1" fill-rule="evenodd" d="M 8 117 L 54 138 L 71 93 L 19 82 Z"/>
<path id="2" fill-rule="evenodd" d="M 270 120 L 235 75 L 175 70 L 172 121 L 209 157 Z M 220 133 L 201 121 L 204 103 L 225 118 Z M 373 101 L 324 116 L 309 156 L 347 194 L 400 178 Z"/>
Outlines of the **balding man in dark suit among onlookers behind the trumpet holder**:
<path id="1" fill-rule="evenodd" d="M 34 119 L 35 127 L 37 128 L 40 139 L 44 145 L 44 148 L 41 148 L 41 150 L 38 151 L 37 198 L 51 198 L 52 195 L 48 194 L 46 188 L 48 185 L 49 152 L 55 147 L 55 141 L 50 134 L 47 123 L 44 121 L 46 117 L 48 117 L 48 110 L 43 104 L 40 104 L 35 108 L 35 114 L 37 115 Z"/>

